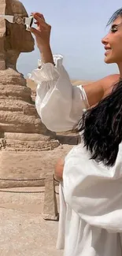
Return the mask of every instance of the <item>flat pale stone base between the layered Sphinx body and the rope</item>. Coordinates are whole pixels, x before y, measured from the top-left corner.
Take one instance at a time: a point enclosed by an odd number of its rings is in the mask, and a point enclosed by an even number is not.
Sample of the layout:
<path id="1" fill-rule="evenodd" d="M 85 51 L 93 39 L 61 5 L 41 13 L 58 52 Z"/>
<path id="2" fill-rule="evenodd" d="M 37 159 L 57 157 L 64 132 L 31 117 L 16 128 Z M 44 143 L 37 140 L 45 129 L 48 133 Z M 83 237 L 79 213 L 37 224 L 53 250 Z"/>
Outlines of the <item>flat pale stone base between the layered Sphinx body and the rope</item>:
<path id="1" fill-rule="evenodd" d="M 42 176 L 46 177 L 48 173 L 52 175 L 57 160 L 64 158 L 71 149 L 72 146 L 64 145 L 50 151 L 6 152 L 6 150 L 2 150 L 0 151 L 0 179 L 15 180 L 13 187 L 17 187 L 17 179 L 35 180 Z"/>

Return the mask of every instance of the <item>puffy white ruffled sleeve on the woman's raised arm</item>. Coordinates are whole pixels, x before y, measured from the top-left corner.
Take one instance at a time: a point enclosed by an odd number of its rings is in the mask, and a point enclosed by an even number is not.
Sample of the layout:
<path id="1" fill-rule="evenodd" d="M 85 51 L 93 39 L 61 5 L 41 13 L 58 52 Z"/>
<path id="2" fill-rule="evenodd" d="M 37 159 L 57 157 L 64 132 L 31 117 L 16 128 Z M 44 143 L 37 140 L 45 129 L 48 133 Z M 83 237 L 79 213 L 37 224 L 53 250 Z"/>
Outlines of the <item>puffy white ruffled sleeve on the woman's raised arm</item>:
<path id="1" fill-rule="evenodd" d="M 87 95 L 82 86 L 72 86 L 68 73 L 62 65 L 61 55 L 54 55 L 54 63 L 43 64 L 29 78 L 38 83 L 35 106 L 43 124 L 50 131 L 72 130 L 88 108 Z"/>

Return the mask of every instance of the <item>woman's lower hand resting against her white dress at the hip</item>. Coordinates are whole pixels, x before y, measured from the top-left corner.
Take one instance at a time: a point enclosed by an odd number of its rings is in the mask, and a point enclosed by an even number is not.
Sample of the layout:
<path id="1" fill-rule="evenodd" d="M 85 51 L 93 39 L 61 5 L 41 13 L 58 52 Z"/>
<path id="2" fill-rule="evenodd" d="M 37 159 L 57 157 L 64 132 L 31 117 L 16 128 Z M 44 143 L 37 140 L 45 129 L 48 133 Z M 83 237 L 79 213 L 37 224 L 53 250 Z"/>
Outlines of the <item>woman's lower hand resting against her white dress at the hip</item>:
<path id="1" fill-rule="evenodd" d="M 55 172 L 54 172 L 54 175 L 56 177 L 56 179 L 58 181 L 62 181 L 63 180 L 63 169 L 64 169 L 64 165 L 65 165 L 65 160 L 64 158 L 60 158 L 58 161 L 57 161 L 57 164 L 55 166 Z"/>

